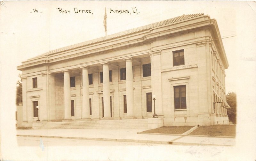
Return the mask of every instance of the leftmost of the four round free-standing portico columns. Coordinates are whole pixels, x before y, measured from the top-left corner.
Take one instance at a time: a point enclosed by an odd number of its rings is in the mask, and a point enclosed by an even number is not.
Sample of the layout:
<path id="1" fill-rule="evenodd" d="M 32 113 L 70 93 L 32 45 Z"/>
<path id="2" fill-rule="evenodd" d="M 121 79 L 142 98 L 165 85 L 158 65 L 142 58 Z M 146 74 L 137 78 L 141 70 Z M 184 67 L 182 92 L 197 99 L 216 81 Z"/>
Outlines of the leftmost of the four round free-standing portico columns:
<path id="1" fill-rule="evenodd" d="M 70 76 L 69 70 L 64 71 L 64 120 L 71 119 L 71 99 L 70 99 Z"/>

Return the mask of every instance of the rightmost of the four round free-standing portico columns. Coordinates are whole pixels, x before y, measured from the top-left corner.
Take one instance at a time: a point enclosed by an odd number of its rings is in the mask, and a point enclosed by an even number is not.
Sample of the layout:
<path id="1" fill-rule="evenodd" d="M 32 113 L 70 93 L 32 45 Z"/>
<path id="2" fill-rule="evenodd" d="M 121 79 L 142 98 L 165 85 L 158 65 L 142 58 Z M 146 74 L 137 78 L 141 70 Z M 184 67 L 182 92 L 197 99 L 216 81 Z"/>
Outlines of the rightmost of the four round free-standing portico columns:
<path id="1" fill-rule="evenodd" d="M 126 104 L 127 104 L 127 117 L 134 117 L 132 58 L 126 58 L 124 60 L 126 61 Z"/>

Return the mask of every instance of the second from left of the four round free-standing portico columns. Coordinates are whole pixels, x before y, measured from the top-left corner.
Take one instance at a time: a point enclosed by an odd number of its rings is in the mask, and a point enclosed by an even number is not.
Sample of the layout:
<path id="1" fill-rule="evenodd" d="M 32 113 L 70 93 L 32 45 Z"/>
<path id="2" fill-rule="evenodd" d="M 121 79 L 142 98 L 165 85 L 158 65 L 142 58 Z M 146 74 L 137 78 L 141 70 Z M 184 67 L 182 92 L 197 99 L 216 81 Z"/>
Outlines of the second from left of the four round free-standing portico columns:
<path id="1" fill-rule="evenodd" d="M 90 118 L 90 102 L 89 102 L 89 78 L 88 68 L 83 67 L 83 106 L 82 119 Z"/>

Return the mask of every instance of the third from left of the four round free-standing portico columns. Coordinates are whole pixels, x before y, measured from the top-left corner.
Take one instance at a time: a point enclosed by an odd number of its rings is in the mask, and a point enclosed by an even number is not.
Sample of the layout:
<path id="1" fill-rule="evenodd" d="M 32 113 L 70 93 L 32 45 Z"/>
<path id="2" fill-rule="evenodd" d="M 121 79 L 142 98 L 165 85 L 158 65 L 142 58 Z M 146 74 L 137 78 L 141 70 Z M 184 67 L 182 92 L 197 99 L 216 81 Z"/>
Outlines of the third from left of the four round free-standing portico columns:
<path id="1" fill-rule="evenodd" d="M 103 104 L 104 118 L 110 118 L 110 89 L 109 89 L 109 68 L 108 62 L 103 65 Z"/>

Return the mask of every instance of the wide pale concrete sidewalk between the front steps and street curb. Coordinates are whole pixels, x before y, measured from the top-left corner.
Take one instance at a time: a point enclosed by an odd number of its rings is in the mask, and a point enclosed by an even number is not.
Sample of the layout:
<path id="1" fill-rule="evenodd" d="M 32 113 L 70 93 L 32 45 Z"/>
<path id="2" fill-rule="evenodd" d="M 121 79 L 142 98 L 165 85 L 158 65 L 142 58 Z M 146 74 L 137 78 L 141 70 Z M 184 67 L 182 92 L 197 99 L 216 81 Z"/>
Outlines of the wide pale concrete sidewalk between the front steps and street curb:
<path id="1" fill-rule="evenodd" d="M 235 138 L 182 135 L 137 134 L 147 129 L 29 129 L 17 130 L 17 136 L 86 139 L 99 141 L 141 142 L 175 145 L 235 146 Z"/>

